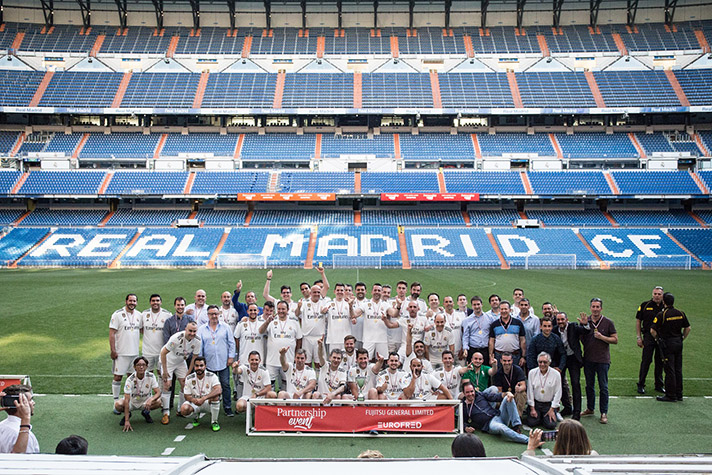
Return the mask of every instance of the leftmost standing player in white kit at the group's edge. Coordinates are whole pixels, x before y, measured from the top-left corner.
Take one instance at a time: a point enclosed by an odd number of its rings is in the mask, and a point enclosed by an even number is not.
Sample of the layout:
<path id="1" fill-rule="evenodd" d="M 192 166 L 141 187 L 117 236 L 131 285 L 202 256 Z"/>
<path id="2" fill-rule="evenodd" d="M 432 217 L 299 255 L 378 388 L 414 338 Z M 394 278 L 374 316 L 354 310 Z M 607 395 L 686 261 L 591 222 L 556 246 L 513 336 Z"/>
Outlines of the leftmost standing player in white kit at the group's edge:
<path id="1" fill-rule="evenodd" d="M 109 347 L 113 360 L 114 380 L 111 383 L 111 395 L 114 404 L 121 396 L 121 380 L 131 374 L 133 360 L 138 357 L 141 339 L 141 314 L 136 311 L 136 294 L 126 296 L 126 305 L 111 315 L 109 321 Z M 114 414 L 121 414 L 114 407 Z"/>

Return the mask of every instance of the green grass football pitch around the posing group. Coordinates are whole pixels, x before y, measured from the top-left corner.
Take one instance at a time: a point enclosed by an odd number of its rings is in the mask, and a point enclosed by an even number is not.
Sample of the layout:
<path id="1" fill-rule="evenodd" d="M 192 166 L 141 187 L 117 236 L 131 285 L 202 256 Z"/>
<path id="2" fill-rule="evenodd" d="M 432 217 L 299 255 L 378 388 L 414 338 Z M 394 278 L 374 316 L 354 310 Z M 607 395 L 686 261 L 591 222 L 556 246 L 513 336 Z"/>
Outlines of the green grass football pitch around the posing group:
<path id="1" fill-rule="evenodd" d="M 355 283 L 353 269 L 327 270 L 336 282 Z M 423 294 L 435 291 L 441 297 L 465 293 L 485 300 L 492 293 L 511 298 L 514 287 L 522 287 L 540 314 L 541 303 L 549 300 L 570 316 L 586 311 L 592 297 L 604 300 L 604 314 L 618 329 L 619 344 L 612 347 L 611 401 L 608 426 L 584 418 L 594 446 L 601 453 L 683 453 L 709 451 L 712 424 L 712 362 L 708 323 L 709 305 L 704 301 L 712 284 L 712 273 L 677 270 L 399 270 L 361 269 L 360 280 L 395 285 L 399 279 L 419 281 Z M 139 297 L 139 309 L 148 307 L 148 296 L 159 293 L 164 307 L 172 310 L 173 298 L 182 295 L 190 303 L 196 289 L 203 288 L 208 303 L 218 303 L 219 294 L 232 291 L 242 280 L 245 290 L 261 294 L 263 270 L 96 270 L 21 269 L 0 272 L 3 311 L 0 312 L 0 373 L 29 374 L 38 397 L 35 432 L 43 451 L 70 433 L 88 435 L 95 454 L 159 455 L 174 447 L 174 455 L 207 453 L 234 457 L 351 457 L 366 448 L 378 448 L 390 457 L 447 456 L 449 439 L 363 438 L 271 438 L 246 437 L 244 416 L 222 418 L 223 430 L 213 434 L 206 427 L 184 430 L 186 421 L 175 419 L 168 427 L 147 426 L 139 414 L 136 431 L 122 434 L 118 419 L 109 410 L 110 392 L 108 322 L 111 313 L 124 303 L 127 293 Z M 318 278 L 316 271 L 277 269 L 273 289 L 286 283 L 297 292 L 299 283 Z M 634 399 L 640 350 L 635 344 L 635 310 L 650 297 L 655 285 L 676 296 L 677 306 L 686 311 L 692 326 L 685 342 L 685 395 L 682 404 L 663 405 L 651 399 Z M 275 295 L 275 292 L 273 292 Z M 296 296 L 296 295 L 295 295 Z M 260 299 L 261 300 L 261 299 Z M 652 370 L 648 378 L 652 389 Z M 75 398 L 65 394 L 81 395 Z M 2 416 L 0 416 L 2 418 Z M 665 430 L 666 436 L 655 434 Z M 187 435 L 174 442 L 177 435 Z M 672 435 L 671 435 L 672 434 Z M 484 435 L 489 455 L 518 455 L 521 446 Z M 215 442 L 219 441 L 219 442 Z"/>

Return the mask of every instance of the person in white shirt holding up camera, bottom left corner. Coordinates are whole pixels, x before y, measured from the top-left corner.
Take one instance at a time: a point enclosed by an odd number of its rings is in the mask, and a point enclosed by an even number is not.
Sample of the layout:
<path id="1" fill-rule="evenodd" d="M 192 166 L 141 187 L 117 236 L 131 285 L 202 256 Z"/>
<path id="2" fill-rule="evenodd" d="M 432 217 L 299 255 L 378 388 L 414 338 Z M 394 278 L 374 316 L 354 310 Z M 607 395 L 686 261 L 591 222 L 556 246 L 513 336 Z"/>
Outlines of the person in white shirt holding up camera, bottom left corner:
<path id="1" fill-rule="evenodd" d="M 35 408 L 32 388 L 13 384 L 0 391 L 0 397 L 0 406 L 7 412 L 7 419 L 0 422 L 0 454 L 38 454 L 40 445 L 30 425 Z"/>

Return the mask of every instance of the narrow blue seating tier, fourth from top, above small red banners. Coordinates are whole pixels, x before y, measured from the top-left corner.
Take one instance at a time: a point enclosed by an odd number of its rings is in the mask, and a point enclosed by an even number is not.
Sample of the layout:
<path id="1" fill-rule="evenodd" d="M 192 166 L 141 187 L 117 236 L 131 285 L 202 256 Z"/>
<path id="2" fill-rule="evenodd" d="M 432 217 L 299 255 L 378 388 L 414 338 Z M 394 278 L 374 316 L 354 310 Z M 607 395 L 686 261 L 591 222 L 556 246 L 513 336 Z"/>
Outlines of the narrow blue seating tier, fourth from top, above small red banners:
<path id="1" fill-rule="evenodd" d="M 0 195 L 39 196 L 236 196 L 239 193 L 478 193 L 482 196 L 704 196 L 710 172 L 472 171 L 45 171 L 0 172 Z M 440 183 L 442 177 L 442 186 Z M 696 180 L 700 180 L 698 181 Z M 270 181 L 272 182 L 270 184 Z M 525 189 L 525 182 L 531 191 Z M 705 185 L 706 183 L 706 185 Z M 617 191 L 611 189 L 615 185 Z"/>

